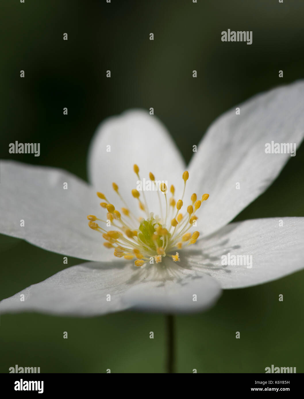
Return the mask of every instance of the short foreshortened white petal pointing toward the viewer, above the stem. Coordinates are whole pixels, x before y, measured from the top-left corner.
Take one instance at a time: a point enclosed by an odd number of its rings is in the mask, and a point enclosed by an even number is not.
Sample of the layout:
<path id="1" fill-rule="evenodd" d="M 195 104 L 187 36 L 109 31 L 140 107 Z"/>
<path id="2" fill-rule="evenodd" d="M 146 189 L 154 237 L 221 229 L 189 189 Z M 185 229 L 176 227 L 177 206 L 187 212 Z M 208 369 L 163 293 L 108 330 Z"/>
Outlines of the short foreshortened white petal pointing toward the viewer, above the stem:
<path id="1" fill-rule="evenodd" d="M 164 263 L 172 262 L 164 259 Z M 175 265 L 181 269 L 181 265 Z M 166 267 L 166 266 L 165 266 Z M 134 310 L 169 314 L 194 313 L 209 309 L 221 295 L 220 284 L 204 273 L 185 269 L 180 279 L 148 281 L 131 287 L 123 302 Z"/>

